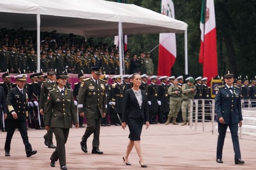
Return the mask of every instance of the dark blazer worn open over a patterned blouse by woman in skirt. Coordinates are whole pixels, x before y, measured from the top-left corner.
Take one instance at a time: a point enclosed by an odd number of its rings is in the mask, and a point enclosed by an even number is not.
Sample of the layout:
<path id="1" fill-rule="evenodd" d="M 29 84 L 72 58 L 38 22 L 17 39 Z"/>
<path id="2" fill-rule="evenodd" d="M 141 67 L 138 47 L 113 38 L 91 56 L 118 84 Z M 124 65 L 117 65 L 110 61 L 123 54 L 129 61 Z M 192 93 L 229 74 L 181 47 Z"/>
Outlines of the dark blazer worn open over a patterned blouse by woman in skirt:
<path id="1" fill-rule="evenodd" d="M 128 89 L 124 96 L 124 109 L 122 111 L 122 122 L 126 122 L 126 118 L 142 117 L 145 121 L 149 121 L 149 105 L 147 104 L 146 92 L 141 90 L 142 106 L 140 109 L 139 103 L 136 99 L 134 91 Z"/>

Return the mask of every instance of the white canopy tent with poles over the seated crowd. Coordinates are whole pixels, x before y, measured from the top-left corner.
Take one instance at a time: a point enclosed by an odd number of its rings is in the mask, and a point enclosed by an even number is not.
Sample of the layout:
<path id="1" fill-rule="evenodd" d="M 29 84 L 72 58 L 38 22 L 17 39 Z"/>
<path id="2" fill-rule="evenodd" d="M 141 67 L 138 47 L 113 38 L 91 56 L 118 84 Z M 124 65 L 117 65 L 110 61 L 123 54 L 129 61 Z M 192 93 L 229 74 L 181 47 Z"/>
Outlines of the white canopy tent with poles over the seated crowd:
<path id="1" fill-rule="evenodd" d="M 188 24 L 134 4 L 103 0 L 1 0 L 0 15 L 0 28 L 23 27 L 28 30 L 37 30 L 38 49 L 40 31 L 51 32 L 52 30 L 85 37 L 106 35 L 122 37 L 122 34 L 138 33 L 184 33 L 186 47 Z M 121 44 L 120 47 L 122 47 Z M 40 56 L 39 51 L 37 55 Z M 40 66 L 39 57 L 37 61 Z M 187 62 L 186 48 L 185 61 Z M 185 63 L 185 73 L 188 74 L 187 63 Z"/>

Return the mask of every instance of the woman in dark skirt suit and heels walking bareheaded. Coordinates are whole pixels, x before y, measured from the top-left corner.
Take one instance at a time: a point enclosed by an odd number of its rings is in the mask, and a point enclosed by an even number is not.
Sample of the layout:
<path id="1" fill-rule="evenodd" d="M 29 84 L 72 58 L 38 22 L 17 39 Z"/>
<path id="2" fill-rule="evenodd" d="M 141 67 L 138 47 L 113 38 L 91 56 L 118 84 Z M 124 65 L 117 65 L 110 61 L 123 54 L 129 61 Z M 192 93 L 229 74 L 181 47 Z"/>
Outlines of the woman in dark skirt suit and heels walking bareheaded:
<path id="1" fill-rule="evenodd" d="M 125 91 L 124 110 L 122 112 L 122 128 L 125 130 L 126 124 L 130 130 L 130 141 L 127 146 L 126 154 L 122 159 L 126 165 L 129 162 L 129 154 L 135 146 L 136 152 L 140 158 L 141 167 L 147 167 L 141 153 L 140 135 L 144 120 L 146 121 L 146 129 L 149 127 L 149 105 L 147 104 L 146 92 L 140 90 L 141 77 L 139 73 L 134 73 L 131 77 L 132 88 Z"/>

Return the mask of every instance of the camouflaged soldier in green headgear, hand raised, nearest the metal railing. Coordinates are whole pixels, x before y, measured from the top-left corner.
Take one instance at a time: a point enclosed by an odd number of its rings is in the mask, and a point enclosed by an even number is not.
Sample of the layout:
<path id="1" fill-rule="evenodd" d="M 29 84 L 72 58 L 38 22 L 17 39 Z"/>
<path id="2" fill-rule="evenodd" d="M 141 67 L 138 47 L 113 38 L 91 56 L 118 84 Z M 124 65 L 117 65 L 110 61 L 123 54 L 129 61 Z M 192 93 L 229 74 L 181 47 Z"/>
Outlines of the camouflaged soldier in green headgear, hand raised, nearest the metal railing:
<path id="1" fill-rule="evenodd" d="M 181 110 L 182 110 L 182 119 L 183 124 L 181 126 L 186 125 L 187 121 L 187 109 L 190 111 L 189 105 L 189 99 L 194 99 L 194 96 L 196 95 L 196 87 L 193 85 L 195 82 L 194 78 L 190 77 L 188 80 L 188 83 L 184 84 L 182 86 L 182 104 L 181 104 Z M 189 116 L 188 116 L 189 119 Z"/>

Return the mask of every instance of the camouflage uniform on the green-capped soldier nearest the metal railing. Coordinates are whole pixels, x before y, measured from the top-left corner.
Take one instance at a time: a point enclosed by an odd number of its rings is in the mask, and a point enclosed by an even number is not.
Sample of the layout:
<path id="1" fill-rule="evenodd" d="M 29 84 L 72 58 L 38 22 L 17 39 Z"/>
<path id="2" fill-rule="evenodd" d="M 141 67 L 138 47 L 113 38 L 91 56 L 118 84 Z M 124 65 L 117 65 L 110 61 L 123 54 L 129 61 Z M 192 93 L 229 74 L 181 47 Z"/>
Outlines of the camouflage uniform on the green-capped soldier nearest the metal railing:
<path id="1" fill-rule="evenodd" d="M 193 85 L 193 86 L 190 86 L 189 84 L 184 84 L 182 86 L 182 104 L 181 104 L 181 110 L 182 110 L 182 119 L 183 119 L 183 122 L 186 122 L 187 121 L 187 110 L 188 112 L 190 111 L 190 107 L 188 108 L 188 105 L 189 105 L 189 99 L 194 99 L 194 96 L 195 96 L 195 93 L 194 92 L 191 92 L 190 89 L 194 89 L 196 90 L 196 87 Z M 189 120 L 189 115 L 188 115 L 188 120 Z"/>

